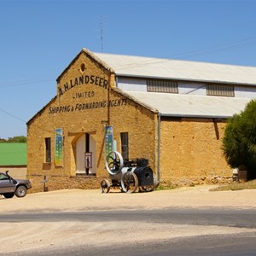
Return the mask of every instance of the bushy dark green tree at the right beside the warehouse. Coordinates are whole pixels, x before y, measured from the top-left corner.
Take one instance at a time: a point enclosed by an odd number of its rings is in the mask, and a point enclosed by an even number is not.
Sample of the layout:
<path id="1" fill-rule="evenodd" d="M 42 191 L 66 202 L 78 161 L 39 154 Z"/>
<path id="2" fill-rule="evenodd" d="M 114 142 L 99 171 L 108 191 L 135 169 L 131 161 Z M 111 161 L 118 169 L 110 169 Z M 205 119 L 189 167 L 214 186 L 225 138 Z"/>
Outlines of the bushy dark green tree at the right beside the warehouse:
<path id="1" fill-rule="evenodd" d="M 223 150 L 232 168 L 246 166 L 248 177 L 256 177 L 256 100 L 229 119 L 224 131 Z"/>

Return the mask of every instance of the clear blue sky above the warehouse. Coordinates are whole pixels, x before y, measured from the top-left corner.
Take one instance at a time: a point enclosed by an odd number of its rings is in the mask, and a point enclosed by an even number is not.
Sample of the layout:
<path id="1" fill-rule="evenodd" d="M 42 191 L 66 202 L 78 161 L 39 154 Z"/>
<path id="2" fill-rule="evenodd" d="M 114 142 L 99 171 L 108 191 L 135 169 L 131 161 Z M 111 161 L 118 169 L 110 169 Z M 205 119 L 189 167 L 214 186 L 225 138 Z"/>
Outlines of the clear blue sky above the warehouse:
<path id="1" fill-rule="evenodd" d="M 83 47 L 255 67 L 255 32 L 253 0 L 0 0 L 0 137 L 26 136 Z"/>

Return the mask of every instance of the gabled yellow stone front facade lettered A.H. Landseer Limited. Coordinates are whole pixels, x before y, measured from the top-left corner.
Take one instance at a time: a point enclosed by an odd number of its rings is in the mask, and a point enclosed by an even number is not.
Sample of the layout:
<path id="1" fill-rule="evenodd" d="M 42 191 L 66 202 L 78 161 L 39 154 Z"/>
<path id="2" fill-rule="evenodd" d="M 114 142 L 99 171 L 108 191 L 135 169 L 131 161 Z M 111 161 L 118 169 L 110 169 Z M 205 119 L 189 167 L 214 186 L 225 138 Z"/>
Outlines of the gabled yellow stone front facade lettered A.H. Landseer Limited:
<path id="1" fill-rule="evenodd" d="M 86 187 L 107 176 L 106 125 L 113 126 L 118 151 L 125 138 L 129 157 L 147 157 L 155 169 L 157 112 L 114 83 L 113 70 L 85 49 L 61 73 L 57 96 L 27 123 L 28 175 L 38 187 L 44 176 L 52 189 Z M 56 145 L 56 132 L 61 146 Z M 145 143 L 140 144 L 142 137 Z M 85 153 L 90 154 L 89 168 L 85 168 Z"/>

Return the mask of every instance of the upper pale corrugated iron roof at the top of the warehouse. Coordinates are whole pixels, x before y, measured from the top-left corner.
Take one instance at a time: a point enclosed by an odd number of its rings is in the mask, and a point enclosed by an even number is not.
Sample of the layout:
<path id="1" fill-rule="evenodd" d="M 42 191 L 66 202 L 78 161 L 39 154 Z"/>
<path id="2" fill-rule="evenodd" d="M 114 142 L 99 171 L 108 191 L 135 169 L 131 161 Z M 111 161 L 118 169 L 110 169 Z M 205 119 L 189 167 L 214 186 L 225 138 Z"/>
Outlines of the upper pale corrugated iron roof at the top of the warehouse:
<path id="1" fill-rule="evenodd" d="M 256 67 L 94 53 L 119 76 L 256 85 Z"/>

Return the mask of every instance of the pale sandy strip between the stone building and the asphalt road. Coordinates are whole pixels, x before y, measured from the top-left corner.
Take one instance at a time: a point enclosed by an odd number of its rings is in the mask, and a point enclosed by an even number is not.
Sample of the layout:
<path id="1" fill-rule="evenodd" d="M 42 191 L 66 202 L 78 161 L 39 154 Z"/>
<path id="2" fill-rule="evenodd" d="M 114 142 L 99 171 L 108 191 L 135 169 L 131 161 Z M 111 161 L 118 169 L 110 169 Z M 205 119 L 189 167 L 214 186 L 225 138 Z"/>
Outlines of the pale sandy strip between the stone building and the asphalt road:
<path id="1" fill-rule="evenodd" d="M 211 192 L 214 186 L 153 191 L 150 193 L 120 193 L 110 190 L 108 194 L 94 190 L 57 190 L 28 194 L 24 198 L 0 197 L 2 212 L 55 212 L 160 209 L 163 207 L 236 207 L 256 208 L 256 189 Z"/>

